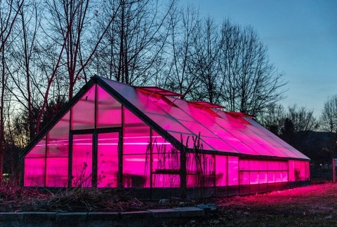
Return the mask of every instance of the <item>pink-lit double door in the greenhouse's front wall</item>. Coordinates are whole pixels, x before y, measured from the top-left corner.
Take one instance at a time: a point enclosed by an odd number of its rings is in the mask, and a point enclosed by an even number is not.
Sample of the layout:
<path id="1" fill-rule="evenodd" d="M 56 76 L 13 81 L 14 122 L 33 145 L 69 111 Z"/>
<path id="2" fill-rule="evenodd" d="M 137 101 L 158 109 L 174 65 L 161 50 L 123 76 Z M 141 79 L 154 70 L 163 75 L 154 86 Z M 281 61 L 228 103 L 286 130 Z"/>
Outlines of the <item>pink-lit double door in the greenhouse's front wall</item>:
<path id="1" fill-rule="evenodd" d="M 73 132 L 70 136 L 71 187 L 116 188 L 121 168 L 119 130 L 91 133 Z"/>

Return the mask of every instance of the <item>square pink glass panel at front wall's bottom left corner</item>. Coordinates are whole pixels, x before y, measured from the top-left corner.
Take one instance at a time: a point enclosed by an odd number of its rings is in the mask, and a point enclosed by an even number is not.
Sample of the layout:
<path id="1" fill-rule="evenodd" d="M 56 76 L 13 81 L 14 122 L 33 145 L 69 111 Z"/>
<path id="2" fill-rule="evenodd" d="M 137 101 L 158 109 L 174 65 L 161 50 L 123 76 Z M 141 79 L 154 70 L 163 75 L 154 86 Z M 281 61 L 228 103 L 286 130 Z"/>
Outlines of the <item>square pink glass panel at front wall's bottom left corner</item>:
<path id="1" fill-rule="evenodd" d="M 44 186 L 46 158 L 25 158 L 25 186 Z"/>

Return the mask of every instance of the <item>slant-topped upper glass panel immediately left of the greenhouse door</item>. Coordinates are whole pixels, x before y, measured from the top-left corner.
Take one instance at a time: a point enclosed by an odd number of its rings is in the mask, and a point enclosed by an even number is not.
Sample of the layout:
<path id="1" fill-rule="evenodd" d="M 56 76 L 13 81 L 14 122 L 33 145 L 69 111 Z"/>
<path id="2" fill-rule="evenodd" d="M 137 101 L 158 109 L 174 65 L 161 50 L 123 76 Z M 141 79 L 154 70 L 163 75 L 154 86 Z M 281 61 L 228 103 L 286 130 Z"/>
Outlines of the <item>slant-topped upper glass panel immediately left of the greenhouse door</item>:
<path id="1" fill-rule="evenodd" d="M 48 132 L 47 157 L 69 156 L 70 111 Z"/>

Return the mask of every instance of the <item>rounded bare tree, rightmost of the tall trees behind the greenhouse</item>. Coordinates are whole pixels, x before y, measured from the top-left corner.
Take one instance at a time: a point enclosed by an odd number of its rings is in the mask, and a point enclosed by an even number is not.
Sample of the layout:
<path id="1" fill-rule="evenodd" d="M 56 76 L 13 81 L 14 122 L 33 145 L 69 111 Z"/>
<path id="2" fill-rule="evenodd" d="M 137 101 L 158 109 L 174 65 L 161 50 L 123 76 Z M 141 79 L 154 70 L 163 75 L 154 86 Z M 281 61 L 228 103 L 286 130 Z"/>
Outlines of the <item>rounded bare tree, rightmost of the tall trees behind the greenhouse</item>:
<path id="1" fill-rule="evenodd" d="M 223 103 L 230 111 L 256 115 L 269 104 L 283 99 L 286 84 L 270 63 L 267 47 L 252 27 L 223 22 L 222 81 Z"/>

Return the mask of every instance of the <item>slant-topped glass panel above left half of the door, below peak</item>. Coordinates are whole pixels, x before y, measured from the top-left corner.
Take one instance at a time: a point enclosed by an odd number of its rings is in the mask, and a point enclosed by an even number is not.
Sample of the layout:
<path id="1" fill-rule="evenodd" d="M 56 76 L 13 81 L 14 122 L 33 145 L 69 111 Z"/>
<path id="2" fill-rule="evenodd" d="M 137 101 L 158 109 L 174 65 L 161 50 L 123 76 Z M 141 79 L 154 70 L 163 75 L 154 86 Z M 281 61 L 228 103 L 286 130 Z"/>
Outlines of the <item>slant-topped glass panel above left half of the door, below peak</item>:
<path id="1" fill-rule="evenodd" d="M 95 128 L 95 85 L 72 106 L 72 130 Z"/>

